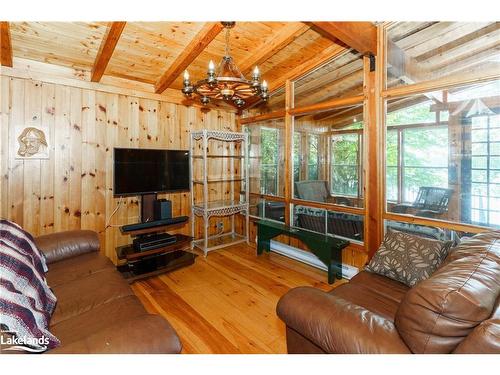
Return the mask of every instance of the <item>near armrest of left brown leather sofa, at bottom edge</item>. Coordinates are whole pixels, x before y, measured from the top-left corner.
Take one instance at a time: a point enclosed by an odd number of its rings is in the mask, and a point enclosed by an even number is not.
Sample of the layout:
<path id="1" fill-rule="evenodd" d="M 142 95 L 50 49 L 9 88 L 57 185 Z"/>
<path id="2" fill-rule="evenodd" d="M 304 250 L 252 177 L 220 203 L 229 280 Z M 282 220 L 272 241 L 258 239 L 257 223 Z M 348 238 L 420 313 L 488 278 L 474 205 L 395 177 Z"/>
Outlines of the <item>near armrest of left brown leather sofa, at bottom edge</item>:
<path id="1" fill-rule="evenodd" d="M 50 350 L 49 354 L 177 354 L 182 345 L 172 326 L 159 315 L 119 322 L 88 337 Z"/>

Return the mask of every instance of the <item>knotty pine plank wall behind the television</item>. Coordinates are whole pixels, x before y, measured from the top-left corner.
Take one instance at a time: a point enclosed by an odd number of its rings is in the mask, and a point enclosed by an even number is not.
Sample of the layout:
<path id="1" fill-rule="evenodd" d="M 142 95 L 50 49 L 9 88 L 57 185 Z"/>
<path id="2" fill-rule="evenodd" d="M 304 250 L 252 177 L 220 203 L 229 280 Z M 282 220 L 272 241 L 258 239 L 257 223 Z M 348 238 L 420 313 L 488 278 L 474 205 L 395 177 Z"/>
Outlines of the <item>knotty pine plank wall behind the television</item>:
<path id="1" fill-rule="evenodd" d="M 34 236 L 95 230 L 113 261 L 115 247 L 130 242 L 117 226 L 139 218 L 138 197 L 123 198 L 113 226 L 105 229 L 119 203 L 113 197 L 113 147 L 188 149 L 191 130 L 236 129 L 236 115 L 224 110 L 22 78 L 0 80 L 0 217 Z M 46 130 L 49 159 L 16 159 L 16 134 L 28 126 Z M 226 190 L 211 195 L 223 199 Z M 172 200 L 174 215 L 189 215 L 189 192 L 160 197 Z M 189 234 L 190 226 L 177 230 Z"/>

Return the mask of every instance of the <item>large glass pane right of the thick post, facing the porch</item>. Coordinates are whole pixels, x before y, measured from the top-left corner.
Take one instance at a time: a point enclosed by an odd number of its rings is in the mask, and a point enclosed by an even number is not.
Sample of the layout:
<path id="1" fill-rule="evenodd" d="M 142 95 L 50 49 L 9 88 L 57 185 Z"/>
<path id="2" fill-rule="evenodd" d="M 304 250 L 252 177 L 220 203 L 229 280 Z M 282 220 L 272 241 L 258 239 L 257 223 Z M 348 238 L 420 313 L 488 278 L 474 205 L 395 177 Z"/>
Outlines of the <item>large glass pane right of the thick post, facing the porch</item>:
<path id="1" fill-rule="evenodd" d="M 500 81 L 386 107 L 387 211 L 500 227 Z"/>

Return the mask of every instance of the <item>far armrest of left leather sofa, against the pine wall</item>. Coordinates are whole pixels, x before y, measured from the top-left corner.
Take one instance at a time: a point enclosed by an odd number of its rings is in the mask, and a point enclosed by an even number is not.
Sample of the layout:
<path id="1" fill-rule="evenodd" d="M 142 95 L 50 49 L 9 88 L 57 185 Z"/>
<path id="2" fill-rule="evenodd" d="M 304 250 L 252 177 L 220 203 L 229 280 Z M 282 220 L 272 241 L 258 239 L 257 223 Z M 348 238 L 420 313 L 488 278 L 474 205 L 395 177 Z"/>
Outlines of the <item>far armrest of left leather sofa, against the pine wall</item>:
<path id="1" fill-rule="evenodd" d="M 47 263 L 99 251 L 99 237 L 91 230 L 57 232 L 35 238 L 37 247 L 45 254 Z"/>

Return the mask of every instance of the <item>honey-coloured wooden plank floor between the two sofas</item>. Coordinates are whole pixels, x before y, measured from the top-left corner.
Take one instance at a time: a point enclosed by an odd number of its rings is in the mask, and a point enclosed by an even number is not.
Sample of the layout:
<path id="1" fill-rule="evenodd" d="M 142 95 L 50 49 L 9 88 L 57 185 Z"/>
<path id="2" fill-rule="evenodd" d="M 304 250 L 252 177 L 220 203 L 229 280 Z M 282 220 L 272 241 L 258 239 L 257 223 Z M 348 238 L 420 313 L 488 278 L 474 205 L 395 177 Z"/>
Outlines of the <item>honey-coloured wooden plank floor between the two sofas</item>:
<path id="1" fill-rule="evenodd" d="M 132 284 L 151 313 L 176 329 L 183 353 L 286 353 L 278 299 L 290 288 L 330 290 L 326 272 L 278 254 L 259 257 L 238 245 L 198 256 L 195 264 Z"/>

